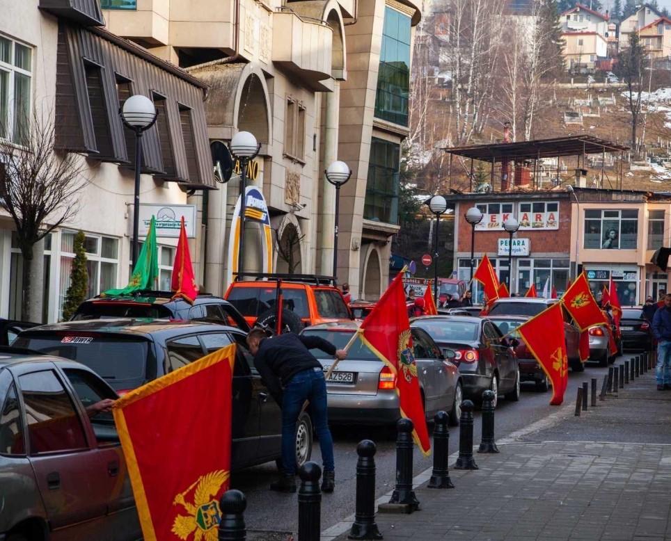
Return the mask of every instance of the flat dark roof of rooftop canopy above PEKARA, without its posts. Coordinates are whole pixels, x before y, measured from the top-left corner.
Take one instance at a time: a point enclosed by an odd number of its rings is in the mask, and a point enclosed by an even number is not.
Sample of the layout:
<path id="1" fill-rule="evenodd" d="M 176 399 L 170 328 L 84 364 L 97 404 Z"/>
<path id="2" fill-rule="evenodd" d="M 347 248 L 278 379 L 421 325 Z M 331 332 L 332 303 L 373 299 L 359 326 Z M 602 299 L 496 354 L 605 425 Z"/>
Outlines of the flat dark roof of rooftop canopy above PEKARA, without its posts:
<path id="1" fill-rule="evenodd" d="M 601 152 L 625 152 L 629 147 L 612 141 L 587 135 L 535 139 L 517 143 L 494 143 L 492 145 L 471 145 L 469 147 L 443 148 L 448 154 L 481 161 L 532 161 L 540 158 L 601 154 Z"/>

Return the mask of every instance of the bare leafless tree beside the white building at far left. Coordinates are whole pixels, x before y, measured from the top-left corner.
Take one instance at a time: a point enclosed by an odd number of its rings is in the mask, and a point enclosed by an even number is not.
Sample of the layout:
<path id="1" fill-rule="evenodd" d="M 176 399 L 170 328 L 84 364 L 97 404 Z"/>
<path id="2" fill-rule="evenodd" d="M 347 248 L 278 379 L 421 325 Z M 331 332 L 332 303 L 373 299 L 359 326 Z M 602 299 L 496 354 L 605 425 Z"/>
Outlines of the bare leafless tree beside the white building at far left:
<path id="1" fill-rule="evenodd" d="M 14 221 L 23 257 L 21 316 L 25 320 L 33 300 L 33 246 L 77 213 L 76 195 L 84 184 L 79 156 L 54 148 L 51 118 L 33 111 L 22 123 L 20 145 L 0 139 L 0 208 Z"/>

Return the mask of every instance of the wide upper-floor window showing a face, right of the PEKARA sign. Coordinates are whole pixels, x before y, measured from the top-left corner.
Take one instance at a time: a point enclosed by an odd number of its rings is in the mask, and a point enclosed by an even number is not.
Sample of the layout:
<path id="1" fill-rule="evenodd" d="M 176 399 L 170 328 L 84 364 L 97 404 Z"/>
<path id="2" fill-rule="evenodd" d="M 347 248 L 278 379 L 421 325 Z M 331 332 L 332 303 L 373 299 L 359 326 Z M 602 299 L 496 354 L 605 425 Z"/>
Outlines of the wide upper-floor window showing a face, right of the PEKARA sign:
<path id="1" fill-rule="evenodd" d="M 635 250 L 638 240 L 638 210 L 585 211 L 585 248 Z"/>

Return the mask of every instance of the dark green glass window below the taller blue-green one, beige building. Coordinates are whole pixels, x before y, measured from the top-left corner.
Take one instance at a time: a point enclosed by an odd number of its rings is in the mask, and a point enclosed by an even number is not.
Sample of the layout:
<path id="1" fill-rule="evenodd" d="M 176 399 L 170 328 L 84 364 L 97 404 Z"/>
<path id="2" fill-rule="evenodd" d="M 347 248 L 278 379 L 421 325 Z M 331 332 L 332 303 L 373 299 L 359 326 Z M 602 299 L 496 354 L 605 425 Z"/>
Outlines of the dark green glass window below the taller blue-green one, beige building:
<path id="1" fill-rule="evenodd" d="M 366 220 L 397 223 L 399 159 L 400 145 L 377 137 L 371 138 L 363 207 Z"/>

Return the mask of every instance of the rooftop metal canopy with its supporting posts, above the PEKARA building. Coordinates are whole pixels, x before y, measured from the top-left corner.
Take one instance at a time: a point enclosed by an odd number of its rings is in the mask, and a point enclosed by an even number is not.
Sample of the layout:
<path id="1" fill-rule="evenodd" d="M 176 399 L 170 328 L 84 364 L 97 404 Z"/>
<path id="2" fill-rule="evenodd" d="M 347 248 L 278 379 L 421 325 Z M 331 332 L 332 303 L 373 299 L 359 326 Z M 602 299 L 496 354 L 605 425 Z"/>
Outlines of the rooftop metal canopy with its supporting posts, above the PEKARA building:
<path id="1" fill-rule="evenodd" d="M 473 161 L 484 161 L 489 164 L 491 190 L 494 190 L 494 168 L 496 163 L 501 164 L 500 186 L 502 190 L 508 189 L 508 168 L 510 163 L 529 163 L 533 162 L 533 185 L 539 187 L 537 180 L 537 169 L 539 160 L 553 158 L 557 160 L 557 172 L 555 180 L 561 184 L 560 178 L 560 158 L 575 156 L 576 170 L 585 170 L 585 156 L 587 154 L 601 154 L 601 186 L 606 179 L 611 188 L 622 188 L 622 176 L 624 172 L 624 152 L 629 150 L 626 145 L 613 143 L 598 137 L 589 135 L 576 135 L 568 137 L 557 137 L 551 139 L 535 139 L 530 141 L 519 141 L 517 143 L 491 143 L 489 145 L 471 145 L 468 147 L 448 147 L 441 149 L 450 154 L 450 184 L 452 181 L 452 159 L 459 156 L 461 159 L 471 160 L 471 172 L 468 175 L 471 181 L 471 192 L 473 191 Z M 615 163 L 615 186 L 610 181 L 605 171 L 606 152 L 609 154 L 619 153 L 619 163 Z M 582 163 L 581 163 L 582 158 Z M 566 161 L 564 161 L 565 165 Z M 504 175 L 505 172 L 505 175 Z M 505 177 L 505 181 L 503 180 Z M 451 187 L 451 186 L 450 186 Z"/>

